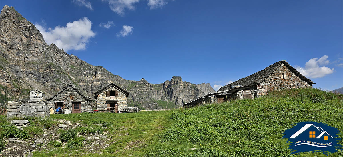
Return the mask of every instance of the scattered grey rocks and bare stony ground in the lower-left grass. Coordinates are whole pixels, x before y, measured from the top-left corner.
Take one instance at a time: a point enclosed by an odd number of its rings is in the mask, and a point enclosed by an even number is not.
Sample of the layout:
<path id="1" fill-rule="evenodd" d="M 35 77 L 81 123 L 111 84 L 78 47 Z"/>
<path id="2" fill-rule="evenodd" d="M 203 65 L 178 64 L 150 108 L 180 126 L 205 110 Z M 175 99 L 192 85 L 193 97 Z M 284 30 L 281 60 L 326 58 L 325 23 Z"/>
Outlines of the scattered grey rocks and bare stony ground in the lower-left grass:
<path id="1" fill-rule="evenodd" d="M 6 147 L 2 151 L 2 156 L 5 157 L 24 157 L 32 156 L 32 153 L 35 151 L 42 151 L 43 149 L 56 149 L 51 148 L 48 143 L 52 140 L 56 140 L 65 145 L 66 143 L 60 141 L 58 138 L 60 134 L 58 133 L 59 129 L 69 129 L 84 126 L 82 120 L 72 123 L 71 121 L 64 119 L 55 119 L 54 121 L 59 122 L 58 125 L 54 125 L 50 129 L 43 129 L 43 136 L 37 136 L 34 138 L 28 138 L 27 140 L 19 140 L 17 138 L 8 138 L 6 139 Z M 11 125 L 15 125 L 18 128 L 22 129 L 27 126 L 31 126 L 28 120 L 13 120 Z M 38 124 L 37 124 L 38 125 Z M 102 125 L 102 124 L 97 124 Z M 39 126 L 39 125 L 38 125 Z M 104 127 L 106 128 L 106 127 Z M 127 128 L 120 128 L 120 130 L 127 130 Z M 78 136 L 82 136 L 78 133 Z M 113 138 L 108 136 L 108 132 L 104 130 L 104 134 L 90 134 L 84 135 L 83 141 L 84 146 L 76 151 L 83 151 L 84 154 L 101 154 L 100 150 L 105 149 L 110 146 L 109 141 Z M 132 145 L 128 144 L 128 145 Z M 83 153 L 82 153 L 83 154 Z M 82 155 L 81 154 L 81 155 Z"/>

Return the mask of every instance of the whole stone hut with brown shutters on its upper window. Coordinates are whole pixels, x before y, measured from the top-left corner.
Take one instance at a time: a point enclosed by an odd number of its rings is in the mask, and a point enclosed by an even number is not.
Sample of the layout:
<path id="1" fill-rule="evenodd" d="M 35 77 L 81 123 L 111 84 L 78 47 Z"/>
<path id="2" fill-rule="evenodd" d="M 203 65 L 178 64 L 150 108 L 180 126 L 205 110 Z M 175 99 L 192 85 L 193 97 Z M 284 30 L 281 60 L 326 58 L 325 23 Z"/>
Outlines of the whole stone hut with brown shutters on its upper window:
<path id="1" fill-rule="evenodd" d="M 129 94 L 116 84 L 111 83 L 94 93 L 96 109 L 109 109 L 108 112 L 114 112 L 115 105 L 118 104 L 118 110 L 124 110 L 125 107 L 128 107 Z"/>

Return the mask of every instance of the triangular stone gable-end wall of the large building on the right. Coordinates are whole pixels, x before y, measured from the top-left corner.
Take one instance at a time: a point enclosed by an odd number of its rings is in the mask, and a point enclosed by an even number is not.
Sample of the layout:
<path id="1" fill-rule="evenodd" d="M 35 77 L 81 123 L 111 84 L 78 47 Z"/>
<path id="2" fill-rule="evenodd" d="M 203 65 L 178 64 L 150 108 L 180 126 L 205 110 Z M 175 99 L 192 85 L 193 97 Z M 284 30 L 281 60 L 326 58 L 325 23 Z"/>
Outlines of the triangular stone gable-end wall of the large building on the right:
<path id="1" fill-rule="evenodd" d="M 282 64 L 265 81 L 257 85 L 257 96 L 283 88 L 312 88 L 312 86 Z"/>

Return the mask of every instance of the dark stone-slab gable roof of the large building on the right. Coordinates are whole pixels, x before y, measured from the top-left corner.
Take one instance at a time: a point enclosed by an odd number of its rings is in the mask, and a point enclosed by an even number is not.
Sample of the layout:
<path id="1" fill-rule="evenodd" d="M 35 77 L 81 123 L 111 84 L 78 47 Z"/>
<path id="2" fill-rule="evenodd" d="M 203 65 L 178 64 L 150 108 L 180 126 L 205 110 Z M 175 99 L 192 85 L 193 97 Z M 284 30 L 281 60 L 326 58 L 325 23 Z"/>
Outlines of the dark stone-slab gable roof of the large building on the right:
<path id="1" fill-rule="evenodd" d="M 292 73 L 294 73 L 295 75 L 300 77 L 301 80 L 307 82 L 310 85 L 315 84 L 313 81 L 306 78 L 304 75 L 300 74 L 299 71 L 297 71 L 295 68 L 293 68 L 291 65 L 289 65 L 288 62 L 279 61 L 279 62 L 276 62 L 276 63 L 264 68 L 261 71 L 258 71 L 257 73 L 251 74 L 250 76 L 247 76 L 245 78 L 241 78 L 235 82 L 227 84 L 226 86 L 223 86 L 222 88 L 220 88 L 218 91 L 230 90 L 230 86 L 235 86 L 235 85 L 250 86 L 250 85 L 261 83 L 266 78 L 268 78 L 269 75 L 272 74 L 282 64 L 284 64 L 289 70 L 291 70 Z"/>

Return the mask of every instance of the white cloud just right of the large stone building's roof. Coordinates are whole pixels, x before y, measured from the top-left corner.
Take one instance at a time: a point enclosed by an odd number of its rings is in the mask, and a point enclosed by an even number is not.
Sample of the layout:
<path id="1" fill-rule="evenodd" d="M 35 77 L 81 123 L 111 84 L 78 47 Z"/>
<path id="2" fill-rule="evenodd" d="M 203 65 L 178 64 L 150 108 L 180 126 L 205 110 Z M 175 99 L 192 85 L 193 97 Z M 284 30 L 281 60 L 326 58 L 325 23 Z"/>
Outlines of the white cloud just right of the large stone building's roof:
<path id="1" fill-rule="evenodd" d="M 319 59 L 312 58 L 305 63 L 305 67 L 295 66 L 295 69 L 309 78 L 323 77 L 325 75 L 333 73 L 334 70 L 334 68 L 330 69 L 326 66 L 320 67 L 320 65 L 327 65 L 330 63 L 330 61 L 327 60 L 328 57 L 328 55 L 323 55 Z"/>

